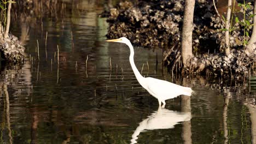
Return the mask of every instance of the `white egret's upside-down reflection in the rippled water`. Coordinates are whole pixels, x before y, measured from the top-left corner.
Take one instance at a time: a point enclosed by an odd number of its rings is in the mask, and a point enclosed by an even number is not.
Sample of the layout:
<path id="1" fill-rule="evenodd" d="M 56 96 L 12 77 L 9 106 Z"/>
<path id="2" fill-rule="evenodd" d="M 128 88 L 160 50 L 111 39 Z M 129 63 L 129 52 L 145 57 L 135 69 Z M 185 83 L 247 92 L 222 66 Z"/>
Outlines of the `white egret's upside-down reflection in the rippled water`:
<path id="1" fill-rule="evenodd" d="M 148 118 L 144 119 L 139 126 L 132 134 L 131 143 L 137 143 L 139 133 L 144 130 L 154 130 L 154 129 L 171 129 L 174 128 L 174 125 L 190 121 L 191 112 L 177 112 L 161 107 L 158 108 L 158 111 L 153 112 Z"/>

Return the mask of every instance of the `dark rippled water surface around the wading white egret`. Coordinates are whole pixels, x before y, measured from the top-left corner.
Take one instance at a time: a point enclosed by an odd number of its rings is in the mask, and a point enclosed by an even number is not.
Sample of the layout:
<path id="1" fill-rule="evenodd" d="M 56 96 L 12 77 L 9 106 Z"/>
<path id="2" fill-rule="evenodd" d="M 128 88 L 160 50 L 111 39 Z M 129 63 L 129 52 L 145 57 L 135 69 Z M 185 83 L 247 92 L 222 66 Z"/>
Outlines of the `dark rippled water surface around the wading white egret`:
<path id="1" fill-rule="evenodd" d="M 133 75 L 128 47 L 103 42 L 108 23 L 96 5 L 43 19 L 43 27 L 14 24 L 18 36 L 30 27 L 28 58 L 21 69 L 2 70 L 0 143 L 255 143 L 255 110 L 239 101 L 253 97 L 247 82 L 171 76 L 161 69 L 160 49 L 135 47 L 142 75 L 196 92 L 158 109 Z"/>

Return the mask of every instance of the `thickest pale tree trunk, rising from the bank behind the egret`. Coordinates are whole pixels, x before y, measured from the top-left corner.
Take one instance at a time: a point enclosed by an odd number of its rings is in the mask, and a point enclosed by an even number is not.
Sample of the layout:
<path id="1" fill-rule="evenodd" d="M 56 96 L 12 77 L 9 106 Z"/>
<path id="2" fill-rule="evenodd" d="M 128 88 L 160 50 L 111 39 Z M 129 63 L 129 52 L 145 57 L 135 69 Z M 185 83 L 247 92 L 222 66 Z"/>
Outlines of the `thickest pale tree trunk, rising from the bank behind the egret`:
<path id="1" fill-rule="evenodd" d="M 182 27 L 182 62 L 187 67 L 192 53 L 192 33 L 195 0 L 186 0 L 184 9 L 184 20 Z"/>

